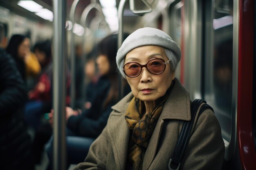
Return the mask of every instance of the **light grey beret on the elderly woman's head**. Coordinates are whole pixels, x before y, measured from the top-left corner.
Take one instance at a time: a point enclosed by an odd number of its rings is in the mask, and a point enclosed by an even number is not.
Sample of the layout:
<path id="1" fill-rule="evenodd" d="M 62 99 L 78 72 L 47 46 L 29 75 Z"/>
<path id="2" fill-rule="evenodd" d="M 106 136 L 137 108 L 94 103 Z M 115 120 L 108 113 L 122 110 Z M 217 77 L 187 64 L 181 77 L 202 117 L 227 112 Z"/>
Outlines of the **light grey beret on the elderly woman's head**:
<path id="1" fill-rule="evenodd" d="M 131 33 L 126 40 L 124 40 L 120 49 L 117 51 L 117 65 L 124 59 L 127 53 L 132 49 L 139 46 L 156 45 L 162 46 L 166 49 L 173 51 L 177 57 L 178 62 L 181 58 L 180 47 L 177 46 L 176 42 L 171 39 L 169 35 L 159 29 L 154 28 L 141 28 Z"/>

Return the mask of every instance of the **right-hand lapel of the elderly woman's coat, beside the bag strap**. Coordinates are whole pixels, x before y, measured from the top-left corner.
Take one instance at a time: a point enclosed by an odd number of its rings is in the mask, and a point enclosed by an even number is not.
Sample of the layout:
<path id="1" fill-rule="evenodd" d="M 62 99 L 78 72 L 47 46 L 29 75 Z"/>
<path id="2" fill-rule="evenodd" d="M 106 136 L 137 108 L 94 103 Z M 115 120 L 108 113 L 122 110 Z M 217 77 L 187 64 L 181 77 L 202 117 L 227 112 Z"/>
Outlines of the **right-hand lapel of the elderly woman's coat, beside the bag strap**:
<path id="1" fill-rule="evenodd" d="M 191 119 L 189 92 L 177 79 L 175 79 L 175 84 L 171 94 L 164 104 L 162 113 L 150 138 L 150 142 L 144 156 L 142 170 L 147 170 L 155 158 L 165 119 L 180 119 L 186 121 Z"/>

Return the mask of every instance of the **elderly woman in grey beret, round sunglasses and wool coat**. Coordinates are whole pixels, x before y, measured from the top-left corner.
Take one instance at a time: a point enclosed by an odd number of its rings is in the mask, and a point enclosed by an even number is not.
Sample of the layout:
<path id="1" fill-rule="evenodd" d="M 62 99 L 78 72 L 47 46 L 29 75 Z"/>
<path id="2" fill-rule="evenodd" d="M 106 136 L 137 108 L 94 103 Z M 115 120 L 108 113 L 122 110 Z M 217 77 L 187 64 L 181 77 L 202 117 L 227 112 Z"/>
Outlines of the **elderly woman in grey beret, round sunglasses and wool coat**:
<path id="1" fill-rule="evenodd" d="M 191 120 L 189 92 L 175 78 L 181 52 L 163 31 L 133 32 L 117 52 L 119 71 L 132 92 L 112 106 L 108 124 L 75 170 L 166 170 L 184 121 Z M 191 130 L 180 170 L 220 170 L 224 142 L 207 109 Z"/>

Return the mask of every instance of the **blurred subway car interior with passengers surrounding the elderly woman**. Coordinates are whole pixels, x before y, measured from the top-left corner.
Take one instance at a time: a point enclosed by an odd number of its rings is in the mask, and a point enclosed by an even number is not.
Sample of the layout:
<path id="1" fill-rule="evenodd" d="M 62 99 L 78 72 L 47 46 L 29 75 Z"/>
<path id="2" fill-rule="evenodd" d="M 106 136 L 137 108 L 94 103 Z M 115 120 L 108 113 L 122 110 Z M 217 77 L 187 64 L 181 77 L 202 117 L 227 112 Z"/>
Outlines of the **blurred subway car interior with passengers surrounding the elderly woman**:
<path id="1" fill-rule="evenodd" d="M 0 49 L 12 56 L 9 64 L 21 75 L 14 84 L 22 79 L 26 93 L 9 99 L 0 85 L 0 110 L 20 99 L 11 110 L 19 107 L 22 115 L 18 123 L 16 114 L 0 113 L 0 169 L 72 170 L 83 162 L 111 106 L 132 90 L 117 71 L 117 50 L 128 35 L 150 27 L 180 47 L 175 77 L 191 101 L 213 108 L 225 145 L 221 169 L 256 170 L 255 25 L 254 0 L 0 0 Z M 148 63 L 142 64 L 151 73 Z M 90 119 L 74 118 L 83 113 Z M 22 128 L 26 138 L 19 137 Z"/>

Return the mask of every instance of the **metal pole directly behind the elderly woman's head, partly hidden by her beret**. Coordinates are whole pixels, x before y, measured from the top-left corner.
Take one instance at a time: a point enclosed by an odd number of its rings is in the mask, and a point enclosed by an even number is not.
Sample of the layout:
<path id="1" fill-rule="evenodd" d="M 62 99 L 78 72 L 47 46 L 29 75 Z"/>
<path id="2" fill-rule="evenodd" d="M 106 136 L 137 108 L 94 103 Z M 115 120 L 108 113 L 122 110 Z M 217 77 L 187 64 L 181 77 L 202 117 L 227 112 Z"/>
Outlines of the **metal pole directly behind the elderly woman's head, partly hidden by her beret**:
<path id="1" fill-rule="evenodd" d="M 119 22 L 119 29 L 118 29 L 118 49 L 121 47 L 124 41 L 124 29 L 123 29 L 123 15 L 124 15 L 124 6 L 128 0 L 121 0 L 118 6 L 118 22 Z M 122 75 L 119 74 L 119 99 L 124 97 L 124 79 Z"/>

